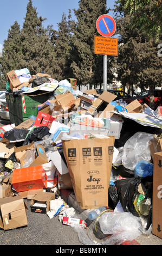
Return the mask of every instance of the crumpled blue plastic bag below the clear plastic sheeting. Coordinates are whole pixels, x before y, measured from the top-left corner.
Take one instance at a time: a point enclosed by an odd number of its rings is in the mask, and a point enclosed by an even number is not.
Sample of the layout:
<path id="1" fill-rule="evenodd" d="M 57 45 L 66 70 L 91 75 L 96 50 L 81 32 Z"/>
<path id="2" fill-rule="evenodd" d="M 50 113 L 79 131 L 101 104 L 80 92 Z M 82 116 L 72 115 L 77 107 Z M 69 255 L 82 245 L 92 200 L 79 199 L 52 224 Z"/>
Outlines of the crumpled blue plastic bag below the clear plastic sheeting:
<path id="1" fill-rule="evenodd" d="M 137 166 L 135 166 L 134 176 L 144 178 L 153 175 L 153 163 L 146 160 L 140 161 Z"/>

